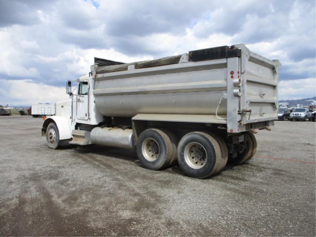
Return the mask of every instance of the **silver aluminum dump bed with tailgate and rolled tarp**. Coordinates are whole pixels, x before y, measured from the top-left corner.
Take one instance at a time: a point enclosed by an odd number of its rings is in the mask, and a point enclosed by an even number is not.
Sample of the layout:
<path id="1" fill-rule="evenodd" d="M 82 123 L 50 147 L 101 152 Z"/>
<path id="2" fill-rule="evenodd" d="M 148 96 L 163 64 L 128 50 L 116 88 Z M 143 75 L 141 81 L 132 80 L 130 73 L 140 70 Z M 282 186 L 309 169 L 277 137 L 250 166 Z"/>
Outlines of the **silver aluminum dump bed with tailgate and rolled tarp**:
<path id="1" fill-rule="evenodd" d="M 230 133 L 277 119 L 278 60 L 243 45 L 92 66 L 95 105 L 109 117 L 227 125 Z"/>

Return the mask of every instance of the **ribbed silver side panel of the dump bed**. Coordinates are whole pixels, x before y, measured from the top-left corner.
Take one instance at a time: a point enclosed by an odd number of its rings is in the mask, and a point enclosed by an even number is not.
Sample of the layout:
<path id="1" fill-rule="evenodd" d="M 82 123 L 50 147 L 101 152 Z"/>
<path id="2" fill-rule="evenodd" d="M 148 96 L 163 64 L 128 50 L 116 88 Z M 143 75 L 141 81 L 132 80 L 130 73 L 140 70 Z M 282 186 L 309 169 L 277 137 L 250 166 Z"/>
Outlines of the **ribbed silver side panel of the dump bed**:
<path id="1" fill-rule="evenodd" d="M 226 90 L 223 58 L 99 74 L 93 94 L 97 109 L 106 116 L 215 115 Z M 226 101 L 218 114 L 226 115 Z"/>

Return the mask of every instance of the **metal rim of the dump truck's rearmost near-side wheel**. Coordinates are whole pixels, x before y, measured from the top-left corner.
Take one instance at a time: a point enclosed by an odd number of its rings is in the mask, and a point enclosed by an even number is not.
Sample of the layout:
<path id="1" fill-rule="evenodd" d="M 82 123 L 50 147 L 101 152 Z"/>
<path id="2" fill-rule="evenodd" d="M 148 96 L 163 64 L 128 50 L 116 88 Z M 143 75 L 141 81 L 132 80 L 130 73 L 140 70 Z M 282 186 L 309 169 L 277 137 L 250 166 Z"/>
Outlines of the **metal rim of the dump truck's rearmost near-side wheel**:
<path id="1" fill-rule="evenodd" d="M 207 155 L 205 148 L 200 143 L 189 143 L 184 149 L 185 162 L 193 169 L 204 167 Z"/>

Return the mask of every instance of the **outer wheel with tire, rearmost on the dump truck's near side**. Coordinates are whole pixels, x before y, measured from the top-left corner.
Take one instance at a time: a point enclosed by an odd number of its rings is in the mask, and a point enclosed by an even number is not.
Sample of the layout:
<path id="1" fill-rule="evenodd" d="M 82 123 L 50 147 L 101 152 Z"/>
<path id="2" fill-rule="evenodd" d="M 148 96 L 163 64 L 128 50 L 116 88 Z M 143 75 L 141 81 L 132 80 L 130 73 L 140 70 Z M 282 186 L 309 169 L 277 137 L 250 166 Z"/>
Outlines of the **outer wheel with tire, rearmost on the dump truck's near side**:
<path id="1" fill-rule="evenodd" d="M 193 178 L 214 175 L 222 164 L 220 145 L 207 133 L 190 132 L 179 142 L 178 162 L 181 169 Z"/>

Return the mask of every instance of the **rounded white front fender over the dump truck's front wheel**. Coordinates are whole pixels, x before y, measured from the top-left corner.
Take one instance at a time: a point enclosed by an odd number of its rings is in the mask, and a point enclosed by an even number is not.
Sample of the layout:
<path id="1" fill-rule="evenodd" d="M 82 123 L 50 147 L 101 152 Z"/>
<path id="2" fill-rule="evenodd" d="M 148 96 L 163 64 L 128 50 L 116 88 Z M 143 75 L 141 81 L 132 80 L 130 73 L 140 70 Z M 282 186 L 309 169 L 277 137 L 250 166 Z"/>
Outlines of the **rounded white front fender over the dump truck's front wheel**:
<path id="1" fill-rule="evenodd" d="M 42 125 L 42 136 L 46 136 L 46 129 L 50 123 L 55 123 L 57 125 L 60 140 L 72 138 L 70 125 L 64 117 L 60 116 L 49 116 L 44 120 Z"/>

